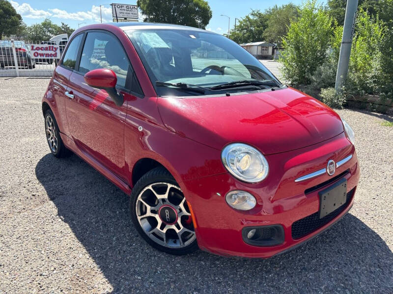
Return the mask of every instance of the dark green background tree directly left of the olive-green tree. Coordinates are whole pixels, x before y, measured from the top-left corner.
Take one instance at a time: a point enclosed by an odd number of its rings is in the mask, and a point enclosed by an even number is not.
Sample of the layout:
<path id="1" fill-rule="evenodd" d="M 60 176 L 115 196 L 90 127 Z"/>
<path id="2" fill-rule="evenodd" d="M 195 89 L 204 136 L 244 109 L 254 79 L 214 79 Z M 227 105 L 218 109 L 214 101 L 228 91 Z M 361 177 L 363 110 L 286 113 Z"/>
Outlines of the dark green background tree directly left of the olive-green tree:
<path id="1" fill-rule="evenodd" d="M 236 30 L 229 32 L 229 39 L 238 44 L 263 41 L 263 32 L 267 27 L 267 16 L 259 10 L 252 10 L 236 25 Z"/>

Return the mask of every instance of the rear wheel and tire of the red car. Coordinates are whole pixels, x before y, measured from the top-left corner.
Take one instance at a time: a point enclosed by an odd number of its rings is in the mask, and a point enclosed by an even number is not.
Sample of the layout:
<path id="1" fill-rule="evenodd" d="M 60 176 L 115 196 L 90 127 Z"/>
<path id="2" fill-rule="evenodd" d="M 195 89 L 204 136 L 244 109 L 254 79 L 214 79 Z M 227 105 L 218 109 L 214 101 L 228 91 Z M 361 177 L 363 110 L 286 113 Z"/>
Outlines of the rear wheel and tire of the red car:
<path id="1" fill-rule="evenodd" d="M 51 153 L 57 157 L 67 157 L 71 151 L 67 149 L 61 140 L 59 128 L 52 110 L 48 109 L 44 115 L 45 118 L 45 135 Z"/>

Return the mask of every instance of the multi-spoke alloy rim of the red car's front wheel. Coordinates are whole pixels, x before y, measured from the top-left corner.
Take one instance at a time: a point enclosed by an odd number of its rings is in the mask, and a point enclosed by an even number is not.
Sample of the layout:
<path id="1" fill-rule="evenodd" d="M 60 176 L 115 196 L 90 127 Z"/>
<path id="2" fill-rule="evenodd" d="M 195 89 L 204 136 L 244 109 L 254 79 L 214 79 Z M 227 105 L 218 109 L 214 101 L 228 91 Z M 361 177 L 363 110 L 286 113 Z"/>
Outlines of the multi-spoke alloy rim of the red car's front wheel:
<path id="1" fill-rule="evenodd" d="M 182 248 L 196 239 L 186 198 L 176 185 L 158 182 L 146 186 L 135 209 L 140 227 L 159 245 Z"/>

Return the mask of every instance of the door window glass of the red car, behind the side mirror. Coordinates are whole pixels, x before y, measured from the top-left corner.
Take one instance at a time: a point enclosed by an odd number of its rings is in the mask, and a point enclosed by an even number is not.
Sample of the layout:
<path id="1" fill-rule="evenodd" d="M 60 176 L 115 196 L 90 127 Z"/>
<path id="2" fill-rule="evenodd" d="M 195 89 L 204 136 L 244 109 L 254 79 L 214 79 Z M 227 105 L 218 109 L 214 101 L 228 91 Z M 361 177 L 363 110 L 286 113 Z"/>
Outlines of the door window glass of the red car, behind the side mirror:
<path id="1" fill-rule="evenodd" d="M 132 70 L 123 46 L 111 34 L 89 32 L 84 41 L 79 71 L 87 73 L 103 68 L 116 73 L 116 85 L 126 88 L 127 77 L 131 77 Z"/>

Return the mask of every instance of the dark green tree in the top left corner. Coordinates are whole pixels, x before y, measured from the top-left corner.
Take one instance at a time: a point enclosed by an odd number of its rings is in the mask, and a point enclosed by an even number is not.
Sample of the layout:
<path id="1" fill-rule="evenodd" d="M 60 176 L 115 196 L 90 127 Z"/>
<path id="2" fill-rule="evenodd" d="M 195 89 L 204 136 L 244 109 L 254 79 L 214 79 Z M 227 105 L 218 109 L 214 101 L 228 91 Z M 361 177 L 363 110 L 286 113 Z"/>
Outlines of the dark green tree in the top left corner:
<path id="1" fill-rule="evenodd" d="M 22 17 L 18 14 L 11 3 L 0 0 L 0 40 L 2 35 L 13 35 L 18 31 Z"/>

